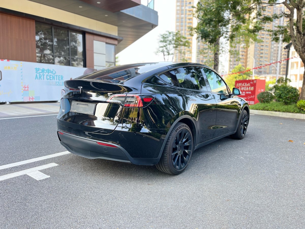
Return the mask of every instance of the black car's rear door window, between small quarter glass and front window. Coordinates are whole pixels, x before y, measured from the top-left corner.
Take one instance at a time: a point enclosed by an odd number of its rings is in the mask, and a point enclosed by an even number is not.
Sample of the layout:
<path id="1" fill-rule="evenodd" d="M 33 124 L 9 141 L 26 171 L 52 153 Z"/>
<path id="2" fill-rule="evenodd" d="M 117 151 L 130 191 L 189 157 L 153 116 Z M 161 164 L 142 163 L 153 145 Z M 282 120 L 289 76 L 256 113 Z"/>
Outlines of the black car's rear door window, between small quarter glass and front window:
<path id="1" fill-rule="evenodd" d="M 187 66 L 174 69 L 179 86 L 185 89 L 195 89 L 206 91 L 206 83 L 204 81 L 201 67 Z"/>

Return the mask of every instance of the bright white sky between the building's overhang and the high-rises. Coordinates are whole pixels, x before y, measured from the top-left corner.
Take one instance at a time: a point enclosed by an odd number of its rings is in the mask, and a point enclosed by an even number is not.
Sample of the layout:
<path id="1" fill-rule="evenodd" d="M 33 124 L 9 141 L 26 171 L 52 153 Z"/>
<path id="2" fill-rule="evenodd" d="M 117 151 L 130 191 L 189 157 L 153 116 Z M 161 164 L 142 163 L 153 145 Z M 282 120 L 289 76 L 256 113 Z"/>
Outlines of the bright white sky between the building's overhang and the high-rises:
<path id="1" fill-rule="evenodd" d="M 141 0 L 141 3 L 147 5 L 147 0 Z M 176 0 L 155 0 L 154 9 L 158 12 L 159 16 L 158 26 L 118 53 L 116 55 L 118 57 L 118 64 L 164 61 L 162 54 L 156 54 L 158 39 L 159 35 L 167 30 L 175 31 L 175 6 Z M 224 54 L 220 57 L 219 72 L 227 71 L 228 55 Z"/>

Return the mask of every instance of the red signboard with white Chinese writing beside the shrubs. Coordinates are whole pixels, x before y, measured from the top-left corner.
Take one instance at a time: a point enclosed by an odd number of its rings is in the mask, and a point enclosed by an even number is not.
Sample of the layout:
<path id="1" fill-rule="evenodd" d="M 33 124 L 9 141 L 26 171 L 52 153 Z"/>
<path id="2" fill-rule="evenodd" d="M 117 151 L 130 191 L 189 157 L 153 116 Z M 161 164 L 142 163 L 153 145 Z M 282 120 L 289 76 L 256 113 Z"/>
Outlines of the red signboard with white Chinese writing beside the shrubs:
<path id="1" fill-rule="evenodd" d="M 266 80 L 264 79 L 246 79 L 236 80 L 235 87 L 240 90 L 239 97 L 245 99 L 249 105 L 257 104 L 257 95 L 265 91 Z"/>

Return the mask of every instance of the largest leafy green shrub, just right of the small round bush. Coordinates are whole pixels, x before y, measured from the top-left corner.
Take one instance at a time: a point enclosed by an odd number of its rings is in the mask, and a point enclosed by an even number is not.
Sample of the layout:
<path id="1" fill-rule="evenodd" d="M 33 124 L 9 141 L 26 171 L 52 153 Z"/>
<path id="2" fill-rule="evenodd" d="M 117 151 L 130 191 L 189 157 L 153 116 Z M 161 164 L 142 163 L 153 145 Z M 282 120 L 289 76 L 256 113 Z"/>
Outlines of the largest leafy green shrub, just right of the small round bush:
<path id="1" fill-rule="evenodd" d="M 296 103 L 299 99 L 299 90 L 289 85 L 274 85 L 273 91 L 275 100 L 283 102 L 285 105 Z"/>

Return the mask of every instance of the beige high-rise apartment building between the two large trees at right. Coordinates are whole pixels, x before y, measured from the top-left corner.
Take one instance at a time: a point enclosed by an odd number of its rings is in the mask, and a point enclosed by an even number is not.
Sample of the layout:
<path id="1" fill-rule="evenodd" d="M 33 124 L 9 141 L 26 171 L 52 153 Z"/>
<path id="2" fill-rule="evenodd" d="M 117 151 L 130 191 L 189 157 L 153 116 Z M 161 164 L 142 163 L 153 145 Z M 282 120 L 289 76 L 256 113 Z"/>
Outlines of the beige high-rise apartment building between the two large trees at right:
<path id="1" fill-rule="evenodd" d="M 279 14 L 282 10 L 281 5 L 268 6 L 265 15 Z M 284 50 L 285 44 L 279 46 L 278 42 L 272 41 L 271 33 L 267 30 L 275 30 L 276 26 L 282 23 L 281 19 L 275 19 L 271 23 L 264 25 L 264 30 L 258 34 L 260 42 L 255 42 L 249 47 L 245 45 L 237 45 L 235 51 L 239 52 L 237 55 L 231 54 L 229 56 L 229 72 L 236 66 L 241 64 L 245 68 L 253 68 L 262 66 L 268 63 L 276 62 L 278 60 L 278 53 L 280 52 L 280 60 L 285 59 L 287 51 Z M 283 67 L 284 66 L 284 67 Z M 277 64 L 267 67 L 262 67 L 254 70 L 255 75 L 276 75 Z M 279 75 L 285 74 L 285 63 L 279 65 Z"/>

